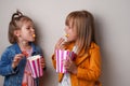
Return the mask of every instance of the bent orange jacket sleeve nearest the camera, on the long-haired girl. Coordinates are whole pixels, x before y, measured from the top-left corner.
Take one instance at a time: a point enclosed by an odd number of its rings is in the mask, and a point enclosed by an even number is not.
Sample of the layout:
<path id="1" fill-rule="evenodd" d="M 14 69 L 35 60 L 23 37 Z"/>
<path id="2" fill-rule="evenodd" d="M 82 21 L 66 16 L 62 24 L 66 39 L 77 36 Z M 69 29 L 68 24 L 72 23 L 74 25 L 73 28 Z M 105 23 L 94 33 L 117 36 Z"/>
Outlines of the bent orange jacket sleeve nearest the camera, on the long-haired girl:
<path id="1" fill-rule="evenodd" d="M 88 60 L 88 58 L 86 60 Z M 78 67 L 77 77 L 87 81 L 99 80 L 101 74 L 101 56 L 99 48 L 91 51 L 89 63 L 87 64 L 89 64 L 87 68 L 86 66 L 84 68 L 80 68 L 80 66 Z"/>

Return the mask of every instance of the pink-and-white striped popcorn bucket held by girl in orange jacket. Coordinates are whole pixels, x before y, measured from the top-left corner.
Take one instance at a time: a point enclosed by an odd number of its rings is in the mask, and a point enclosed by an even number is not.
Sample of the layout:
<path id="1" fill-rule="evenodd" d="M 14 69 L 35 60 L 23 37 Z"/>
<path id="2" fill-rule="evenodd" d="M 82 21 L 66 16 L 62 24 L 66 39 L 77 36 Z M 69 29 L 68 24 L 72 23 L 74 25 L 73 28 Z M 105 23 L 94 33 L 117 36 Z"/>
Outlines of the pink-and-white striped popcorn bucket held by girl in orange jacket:
<path id="1" fill-rule="evenodd" d="M 67 59 L 66 58 L 67 55 L 73 59 L 75 55 L 74 52 L 57 49 L 55 55 L 56 55 L 56 72 L 66 73 L 67 71 L 63 66 L 63 60 Z"/>

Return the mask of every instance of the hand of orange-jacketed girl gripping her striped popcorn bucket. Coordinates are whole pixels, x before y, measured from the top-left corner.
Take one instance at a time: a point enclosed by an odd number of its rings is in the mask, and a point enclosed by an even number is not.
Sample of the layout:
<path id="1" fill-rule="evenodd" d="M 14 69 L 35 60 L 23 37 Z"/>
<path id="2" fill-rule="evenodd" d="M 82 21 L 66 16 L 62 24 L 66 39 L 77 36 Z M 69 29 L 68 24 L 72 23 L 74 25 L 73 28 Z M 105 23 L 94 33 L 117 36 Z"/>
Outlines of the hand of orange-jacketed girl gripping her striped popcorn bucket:
<path id="1" fill-rule="evenodd" d="M 67 60 L 63 60 L 63 64 L 68 72 L 77 74 L 77 67 L 69 56 L 67 56 Z"/>

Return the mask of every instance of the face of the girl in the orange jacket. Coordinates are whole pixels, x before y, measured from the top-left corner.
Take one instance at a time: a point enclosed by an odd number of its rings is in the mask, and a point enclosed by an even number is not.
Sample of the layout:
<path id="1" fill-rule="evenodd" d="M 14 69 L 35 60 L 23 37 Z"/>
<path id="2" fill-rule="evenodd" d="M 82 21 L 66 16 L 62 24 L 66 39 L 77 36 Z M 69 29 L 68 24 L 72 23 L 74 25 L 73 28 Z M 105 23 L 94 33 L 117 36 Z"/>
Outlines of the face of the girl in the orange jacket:
<path id="1" fill-rule="evenodd" d="M 69 24 L 70 26 L 65 26 L 65 32 L 67 34 L 67 42 L 75 42 L 77 40 L 77 33 L 75 27 L 72 27 L 72 23 Z"/>

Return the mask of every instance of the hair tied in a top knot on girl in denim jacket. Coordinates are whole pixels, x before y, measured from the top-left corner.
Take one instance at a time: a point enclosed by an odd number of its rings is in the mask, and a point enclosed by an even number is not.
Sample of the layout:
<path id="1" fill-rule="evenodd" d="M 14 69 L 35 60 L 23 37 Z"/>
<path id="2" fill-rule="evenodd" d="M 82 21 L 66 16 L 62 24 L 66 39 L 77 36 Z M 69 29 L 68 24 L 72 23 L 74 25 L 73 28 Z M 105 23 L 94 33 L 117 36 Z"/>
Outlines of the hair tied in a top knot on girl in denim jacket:
<path id="1" fill-rule="evenodd" d="M 15 30 L 22 28 L 24 22 L 32 22 L 28 16 L 23 15 L 20 11 L 16 11 L 12 15 L 11 22 L 9 24 L 9 42 L 14 44 L 17 42 L 17 37 L 14 34 Z"/>

